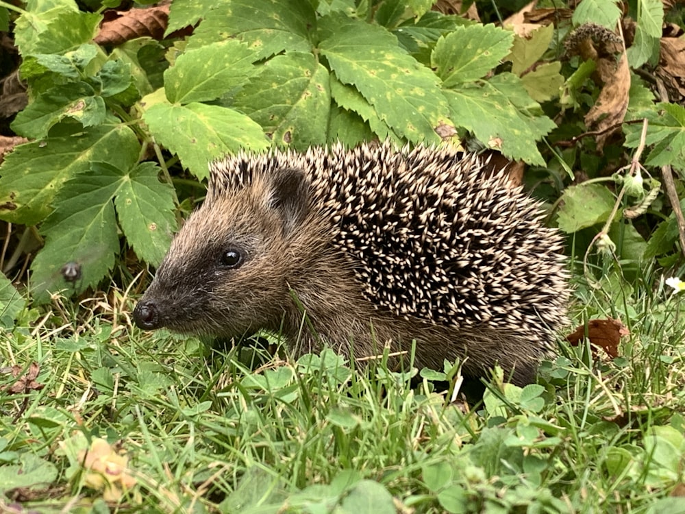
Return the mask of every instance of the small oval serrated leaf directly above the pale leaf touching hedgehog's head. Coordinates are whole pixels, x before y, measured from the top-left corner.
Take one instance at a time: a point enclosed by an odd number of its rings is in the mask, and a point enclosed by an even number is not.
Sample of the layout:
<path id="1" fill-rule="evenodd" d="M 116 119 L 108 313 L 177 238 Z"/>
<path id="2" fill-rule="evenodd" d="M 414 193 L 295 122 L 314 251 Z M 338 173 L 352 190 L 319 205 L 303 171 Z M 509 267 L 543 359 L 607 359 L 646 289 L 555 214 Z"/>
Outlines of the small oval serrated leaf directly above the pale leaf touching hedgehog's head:
<path id="1" fill-rule="evenodd" d="M 189 50 L 164 72 L 166 97 L 171 103 L 219 98 L 254 75 L 255 60 L 256 53 L 234 39 Z"/>

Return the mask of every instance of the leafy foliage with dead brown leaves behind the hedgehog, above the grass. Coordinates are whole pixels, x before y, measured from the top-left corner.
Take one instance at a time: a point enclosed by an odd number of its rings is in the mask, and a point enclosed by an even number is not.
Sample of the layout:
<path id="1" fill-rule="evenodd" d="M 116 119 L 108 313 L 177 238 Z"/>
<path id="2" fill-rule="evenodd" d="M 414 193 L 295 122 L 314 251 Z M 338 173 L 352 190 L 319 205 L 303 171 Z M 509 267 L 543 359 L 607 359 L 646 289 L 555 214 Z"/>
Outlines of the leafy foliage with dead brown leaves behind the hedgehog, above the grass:
<path id="1" fill-rule="evenodd" d="M 0 7 L 27 84 L 27 105 L 5 132 L 29 140 L 0 167 L 0 219 L 14 226 L 3 271 L 16 277 L 30 262 L 38 303 L 49 291 L 97 286 L 115 268 L 127 284 L 134 260 L 159 264 L 179 215 L 201 198 L 194 180 L 206 180 L 210 160 L 374 138 L 525 162 L 535 194 L 556 202 L 550 223 L 575 236 L 578 256 L 606 232 L 616 262 L 674 264 L 677 223 L 654 171 L 682 169 L 685 114 L 654 91 L 660 71 L 679 64 L 660 49 L 682 45 L 661 37 L 666 14 L 678 21 L 680 10 L 584 1 L 502 29 L 432 7 L 176 0 L 113 20 L 104 6 L 90 12 L 97 5 L 69 0 Z M 619 22 L 632 41 L 615 33 Z M 623 168 L 625 147 L 640 140 L 629 122 L 645 118 L 653 180 L 633 186 L 616 211 L 622 181 L 645 173 Z M 602 182 L 612 173 L 616 183 Z M 631 205 L 643 216 L 621 219 Z M 64 277 L 68 263 L 79 280 Z"/>

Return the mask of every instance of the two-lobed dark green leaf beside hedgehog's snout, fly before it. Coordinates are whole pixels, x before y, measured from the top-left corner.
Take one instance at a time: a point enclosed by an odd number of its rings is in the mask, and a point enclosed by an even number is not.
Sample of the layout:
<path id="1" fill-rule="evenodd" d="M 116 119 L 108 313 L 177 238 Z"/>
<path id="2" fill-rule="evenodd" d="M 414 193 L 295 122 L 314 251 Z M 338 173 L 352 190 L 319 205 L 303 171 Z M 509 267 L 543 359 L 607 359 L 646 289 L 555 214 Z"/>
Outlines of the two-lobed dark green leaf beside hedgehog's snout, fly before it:
<path id="1" fill-rule="evenodd" d="M 153 265 L 161 262 L 176 228 L 175 193 L 157 175 L 158 168 L 149 162 L 125 169 L 95 162 L 69 181 L 55 200 L 55 212 L 40 228 L 45 247 L 31 265 L 37 302 L 60 289 L 85 291 L 112 269 L 120 249 L 114 204 L 138 256 Z M 67 263 L 77 267 L 77 280 L 61 272 Z"/>

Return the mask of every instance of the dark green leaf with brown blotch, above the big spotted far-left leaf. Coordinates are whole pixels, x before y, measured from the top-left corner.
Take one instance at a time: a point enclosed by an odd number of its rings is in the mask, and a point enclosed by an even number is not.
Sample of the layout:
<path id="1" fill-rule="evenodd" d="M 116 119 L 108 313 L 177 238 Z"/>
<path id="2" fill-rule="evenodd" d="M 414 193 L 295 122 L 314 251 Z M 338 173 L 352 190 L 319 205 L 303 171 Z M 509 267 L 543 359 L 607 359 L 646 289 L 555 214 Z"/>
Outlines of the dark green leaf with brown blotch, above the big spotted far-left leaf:
<path id="1" fill-rule="evenodd" d="M 16 115 L 12 130 L 21 136 L 42 138 L 66 117 L 80 121 L 84 127 L 92 127 L 105 121 L 106 112 L 105 101 L 86 82 L 64 84 L 29 103 Z"/>

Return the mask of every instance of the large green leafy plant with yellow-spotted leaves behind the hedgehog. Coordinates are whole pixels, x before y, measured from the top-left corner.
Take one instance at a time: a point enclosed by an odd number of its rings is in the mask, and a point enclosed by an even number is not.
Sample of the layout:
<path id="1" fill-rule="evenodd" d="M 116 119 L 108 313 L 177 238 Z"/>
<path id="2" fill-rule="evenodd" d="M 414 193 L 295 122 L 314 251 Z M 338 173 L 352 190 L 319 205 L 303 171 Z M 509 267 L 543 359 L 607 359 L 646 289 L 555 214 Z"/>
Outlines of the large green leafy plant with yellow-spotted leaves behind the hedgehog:
<path id="1" fill-rule="evenodd" d="M 175 160 L 204 180 L 210 160 L 240 150 L 373 137 L 456 145 L 469 130 L 544 164 L 535 143 L 554 124 L 522 79 L 499 70 L 512 32 L 409 5 L 177 0 L 168 34 L 201 19 L 187 40 L 114 47 L 94 42 L 101 16 L 71 0 L 12 8 L 29 87 L 12 129 L 34 142 L 0 168 L 0 218 L 45 238 L 34 299 L 95 286 L 125 247 L 158 265 L 176 228 Z M 536 97 L 554 95 L 557 71 Z M 69 263 L 78 280 L 64 277 Z"/>

